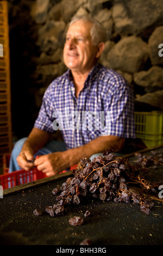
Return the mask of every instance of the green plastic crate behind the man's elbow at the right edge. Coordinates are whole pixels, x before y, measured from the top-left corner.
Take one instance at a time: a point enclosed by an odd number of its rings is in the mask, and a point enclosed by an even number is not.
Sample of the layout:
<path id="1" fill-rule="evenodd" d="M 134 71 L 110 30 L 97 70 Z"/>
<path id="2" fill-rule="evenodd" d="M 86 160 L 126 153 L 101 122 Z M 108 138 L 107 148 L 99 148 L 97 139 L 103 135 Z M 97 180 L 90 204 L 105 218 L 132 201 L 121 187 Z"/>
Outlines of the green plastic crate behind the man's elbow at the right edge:
<path id="1" fill-rule="evenodd" d="M 148 148 L 163 143 L 163 111 L 135 112 L 136 138 Z"/>

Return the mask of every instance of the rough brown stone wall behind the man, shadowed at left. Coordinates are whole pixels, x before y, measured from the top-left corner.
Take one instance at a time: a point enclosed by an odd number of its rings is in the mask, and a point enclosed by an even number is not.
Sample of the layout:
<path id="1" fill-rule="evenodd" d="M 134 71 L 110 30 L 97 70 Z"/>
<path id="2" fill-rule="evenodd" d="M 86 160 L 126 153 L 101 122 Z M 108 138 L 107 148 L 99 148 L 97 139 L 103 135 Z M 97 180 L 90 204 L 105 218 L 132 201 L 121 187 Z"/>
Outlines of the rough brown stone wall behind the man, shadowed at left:
<path id="1" fill-rule="evenodd" d="M 64 36 L 76 14 L 105 26 L 100 61 L 129 81 L 135 109 L 163 109 L 162 0 L 10 0 L 12 129 L 18 137 L 28 135 L 45 89 L 66 70 Z"/>

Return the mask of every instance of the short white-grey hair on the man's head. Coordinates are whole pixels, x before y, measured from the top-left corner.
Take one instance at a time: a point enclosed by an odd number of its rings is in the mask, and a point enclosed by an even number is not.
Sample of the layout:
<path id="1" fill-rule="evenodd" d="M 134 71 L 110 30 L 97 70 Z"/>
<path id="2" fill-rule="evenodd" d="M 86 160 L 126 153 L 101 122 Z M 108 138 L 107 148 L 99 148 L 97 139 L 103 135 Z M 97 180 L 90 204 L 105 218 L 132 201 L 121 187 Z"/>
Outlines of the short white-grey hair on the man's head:
<path id="1" fill-rule="evenodd" d="M 89 15 L 74 16 L 72 18 L 72 20 L 70 21 L 68 27 L 70 27 L 73 23 L 75 23 L 77 21 L 91 22 L 92 23 L 90 33 L 91 33 L 92 43 L 94 45 L 98 45 L 99 42 L 105 42 L 105 40 L 106 40 L 106 31 L 105 31 L 105 28 L 103 27 L 103 25 L 100 22 L 93 19 Z"/>

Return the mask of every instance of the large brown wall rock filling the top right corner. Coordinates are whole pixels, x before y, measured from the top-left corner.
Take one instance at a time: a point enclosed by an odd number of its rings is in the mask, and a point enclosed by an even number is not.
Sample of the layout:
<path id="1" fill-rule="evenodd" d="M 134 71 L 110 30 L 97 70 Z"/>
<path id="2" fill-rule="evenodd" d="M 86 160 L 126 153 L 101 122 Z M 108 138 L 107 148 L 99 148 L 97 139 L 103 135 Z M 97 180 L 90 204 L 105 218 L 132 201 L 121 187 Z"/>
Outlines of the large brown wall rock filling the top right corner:
<path id="1" fill-rule="evenodd" d="M 113 18 L 117 33 L 148 37 L 156 26 L 163 25 L 162 1 L 115 0 Z"/>

